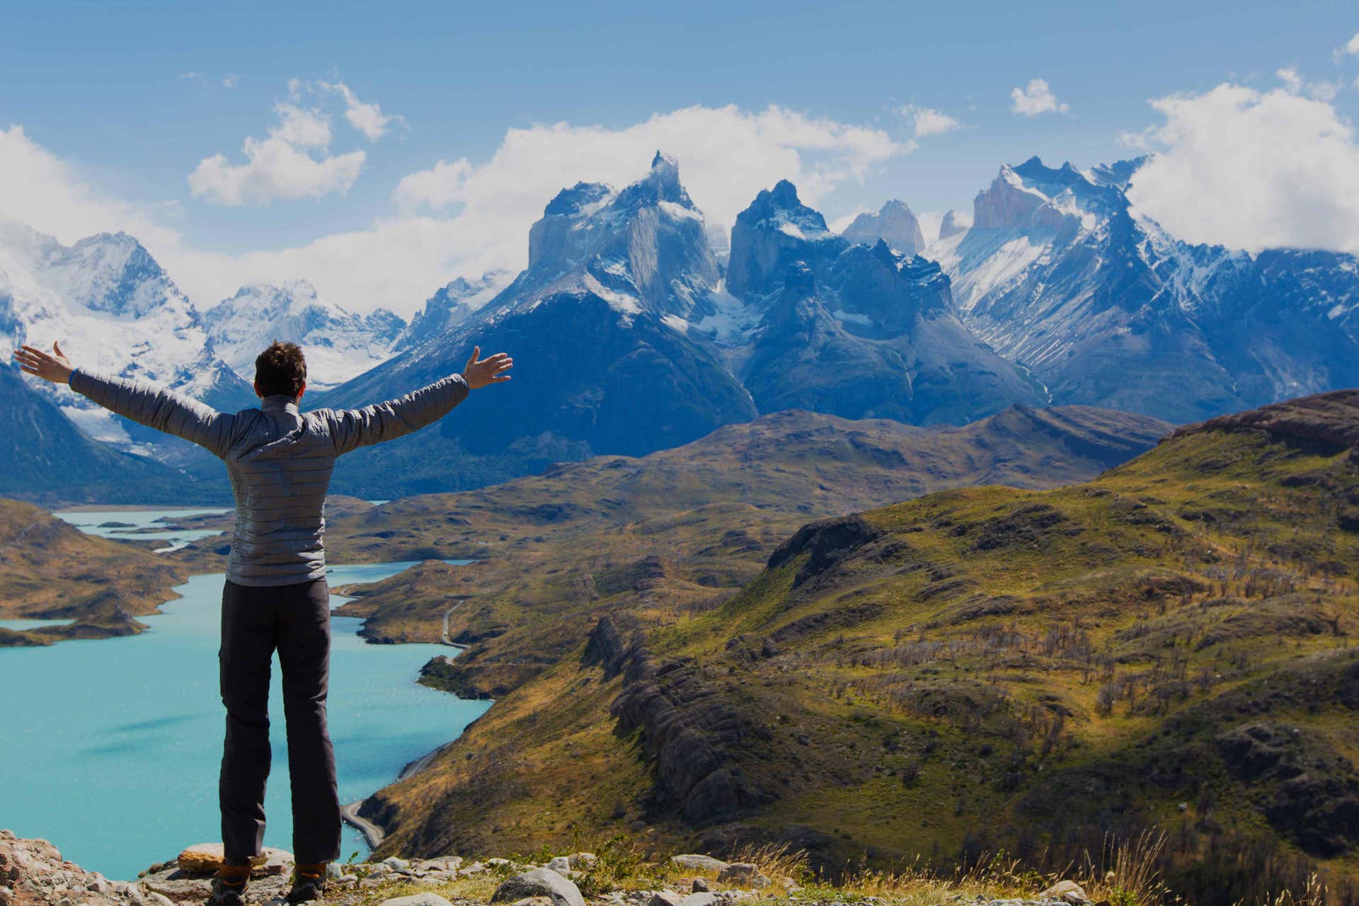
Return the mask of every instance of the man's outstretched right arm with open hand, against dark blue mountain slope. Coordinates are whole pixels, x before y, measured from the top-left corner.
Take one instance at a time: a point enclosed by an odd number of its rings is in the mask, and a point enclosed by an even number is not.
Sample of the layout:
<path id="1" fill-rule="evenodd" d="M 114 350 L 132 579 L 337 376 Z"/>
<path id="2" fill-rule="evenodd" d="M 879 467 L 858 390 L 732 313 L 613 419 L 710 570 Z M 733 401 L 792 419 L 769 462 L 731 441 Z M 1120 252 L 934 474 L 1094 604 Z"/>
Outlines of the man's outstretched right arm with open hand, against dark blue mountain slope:
<path id="1" fill-rule="evenodd" d="M 489 359 L 478 360 L 480 355 L 481 346 L 473 348 L 461 375 L 440 378 L 400 399 L 363 409 L 322 410 L 330 422 L 336 455 L 420 431 L 448 414 L 472 390 L 510 380 L 506 372 L 514 365 L 514 359 L 508 353 L 497 352 Z"/>

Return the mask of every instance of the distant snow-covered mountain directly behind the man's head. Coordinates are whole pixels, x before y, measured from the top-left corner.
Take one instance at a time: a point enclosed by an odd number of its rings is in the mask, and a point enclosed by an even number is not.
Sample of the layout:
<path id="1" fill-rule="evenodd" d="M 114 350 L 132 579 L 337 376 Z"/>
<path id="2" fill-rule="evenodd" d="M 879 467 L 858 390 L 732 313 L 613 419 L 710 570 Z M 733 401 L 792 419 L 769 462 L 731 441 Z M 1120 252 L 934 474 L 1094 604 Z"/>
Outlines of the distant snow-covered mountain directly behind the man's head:
<path id="1" fill-rule="evenodd" d="M 333 387 L 391 356 L 406 322 L 378 308 L 367 315 L 317 297 L 306 280 L 253 284 L 202 312 L 208 338 L 246 382 L 255 356 L 275 340 L 295 342 L 307 357 L 307 386 Z"/>

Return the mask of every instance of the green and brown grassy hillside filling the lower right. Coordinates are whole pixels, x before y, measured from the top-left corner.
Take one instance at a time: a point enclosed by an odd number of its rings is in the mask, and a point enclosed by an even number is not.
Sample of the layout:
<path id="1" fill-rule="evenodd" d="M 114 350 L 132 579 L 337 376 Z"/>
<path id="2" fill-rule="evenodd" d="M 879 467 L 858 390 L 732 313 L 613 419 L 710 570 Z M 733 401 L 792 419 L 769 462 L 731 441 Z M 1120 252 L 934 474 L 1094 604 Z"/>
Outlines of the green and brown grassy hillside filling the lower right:
<path id="1" fill-rule="evenodd" d="M 569 653 L 503 683 L 368 811 L 391 852 L 631 829 L 791 841 L 825 865 L 996 848 L 1052 865 L 1157 825 L 1196 902 L 1301 888 L 1313 867 L 1341 890 L 1359 844 L 1355 441 L 1354 391 L 1215 420 L 1087 484 L 805 526 L 726 600 L 686 594 L 694 575 L 660 554 L 588 570 L 588 640 L 535 649 L 531 621 L 506 617 L 520 656 Z M 665 538 L 677 564 L 696 553 Z"/>

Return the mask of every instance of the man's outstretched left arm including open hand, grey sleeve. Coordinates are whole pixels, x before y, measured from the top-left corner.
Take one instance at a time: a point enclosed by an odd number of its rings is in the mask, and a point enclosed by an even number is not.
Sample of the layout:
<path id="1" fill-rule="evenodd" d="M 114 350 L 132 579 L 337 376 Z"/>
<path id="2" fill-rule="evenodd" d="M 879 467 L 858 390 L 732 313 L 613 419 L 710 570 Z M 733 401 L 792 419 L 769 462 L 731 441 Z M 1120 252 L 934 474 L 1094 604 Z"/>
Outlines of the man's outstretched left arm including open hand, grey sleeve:
<path id="1" fill-rule="evenodd" d="M 52 344 L 50 353 L 23 346 L 14 350 L 14 357 L 27 374 L 52 383 L 69 384 L 77 394 L 137 424 L 192 440 L 219 456 L 224 456 L 231 446 L 234 416 L 220 413 L 197 399 L 141 380 L 77 368 L 63 355 L 58 344 Z"/>

